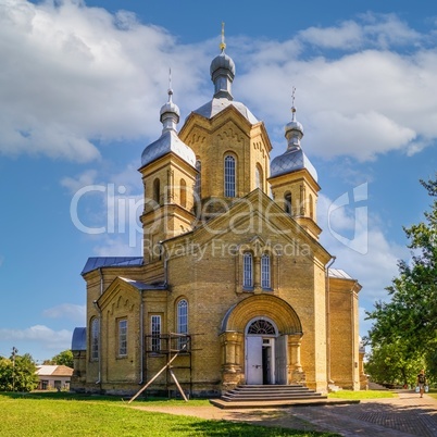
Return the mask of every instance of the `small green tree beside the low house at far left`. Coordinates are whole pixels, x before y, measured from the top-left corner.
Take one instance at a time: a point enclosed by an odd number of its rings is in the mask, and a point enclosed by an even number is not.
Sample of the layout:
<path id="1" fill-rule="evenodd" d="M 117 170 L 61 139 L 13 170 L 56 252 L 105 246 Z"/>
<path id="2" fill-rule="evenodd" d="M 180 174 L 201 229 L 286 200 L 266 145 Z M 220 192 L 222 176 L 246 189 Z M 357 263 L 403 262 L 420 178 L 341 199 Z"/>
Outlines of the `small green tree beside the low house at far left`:
<path id="1" fill-rule="evenodd" d="M 35 361 L 30 354 L 0 358 L 0 390 L 32 391 L 38 387 Z"/>

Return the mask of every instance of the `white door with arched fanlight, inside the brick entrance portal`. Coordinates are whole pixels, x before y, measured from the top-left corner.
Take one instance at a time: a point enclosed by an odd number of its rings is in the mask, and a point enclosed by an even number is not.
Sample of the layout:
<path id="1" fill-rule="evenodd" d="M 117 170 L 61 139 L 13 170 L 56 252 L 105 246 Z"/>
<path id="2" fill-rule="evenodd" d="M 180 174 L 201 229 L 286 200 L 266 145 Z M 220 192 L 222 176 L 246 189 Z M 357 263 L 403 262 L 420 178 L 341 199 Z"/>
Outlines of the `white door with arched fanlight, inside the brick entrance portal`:
<path id="1" fill-rule="evenodd" d="M 276 383 L 277 327 L 266 317 L 251 320 L 246 326 L 246 383 Z"/>

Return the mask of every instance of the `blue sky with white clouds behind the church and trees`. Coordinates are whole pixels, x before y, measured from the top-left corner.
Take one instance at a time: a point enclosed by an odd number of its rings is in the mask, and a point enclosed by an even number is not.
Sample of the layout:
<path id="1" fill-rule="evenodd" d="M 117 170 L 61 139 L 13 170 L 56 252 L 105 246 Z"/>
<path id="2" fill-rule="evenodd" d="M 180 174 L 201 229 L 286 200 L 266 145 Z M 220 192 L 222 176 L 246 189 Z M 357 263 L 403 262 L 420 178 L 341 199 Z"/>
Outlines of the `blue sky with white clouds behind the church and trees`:
<path id="1" fill-rule="evenodd" d="M 265 123 L 272 159 L 296 88 L 321 242 L 363 287 L 366 335 L 365 311 L 411 255 L 403 226 L 430 205 L 434 2 L 0 0 L 0 355 L 70 349 L 88 257 L 141 254 L 137 170 L 168 68 L 183 123 L 212 98 L 222 22 L 234 98 Z"/>

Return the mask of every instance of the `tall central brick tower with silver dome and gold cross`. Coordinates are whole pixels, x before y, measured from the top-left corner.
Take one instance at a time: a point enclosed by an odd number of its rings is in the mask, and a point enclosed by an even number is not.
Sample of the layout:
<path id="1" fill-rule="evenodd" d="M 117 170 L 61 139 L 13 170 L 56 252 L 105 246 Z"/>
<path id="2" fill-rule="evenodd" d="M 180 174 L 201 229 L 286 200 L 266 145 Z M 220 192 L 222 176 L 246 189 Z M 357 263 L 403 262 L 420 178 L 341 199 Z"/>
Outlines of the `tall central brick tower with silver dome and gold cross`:
<path id="1" fill-rule="evenodd" d="M 225 50 L 222 24 L 220 54 L 210 65 L 212 99 L 189 114 L 179 134 L 196 153 L 197 192 L 207 217 L 257 188 L 269 192 L 272 145 L 264 123 L 234 99 L 236 66 Z"/>

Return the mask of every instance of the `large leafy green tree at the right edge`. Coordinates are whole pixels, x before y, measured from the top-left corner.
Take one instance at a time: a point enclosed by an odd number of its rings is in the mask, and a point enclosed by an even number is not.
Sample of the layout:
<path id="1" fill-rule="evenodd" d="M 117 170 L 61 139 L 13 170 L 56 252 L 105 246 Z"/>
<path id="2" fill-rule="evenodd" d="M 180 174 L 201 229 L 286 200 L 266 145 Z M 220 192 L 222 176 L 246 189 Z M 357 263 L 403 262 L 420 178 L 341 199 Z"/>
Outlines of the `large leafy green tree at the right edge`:
<path id="1" fill-rule="evenodd" d="M 376 302 L 374 311 L 367 312 L 374 324 L 366 340 L 375 353 L 386 351 L 386 345 L 401 345 L 403 360 L 423 357 L 428 374 L 436 378 L 437 178 L 421 184 L 434 199 L 432 209 L 423 222 L 403 228 L 412 258 L 398 263 L 399 276 L 387 287 L 391 300 Z"/>

